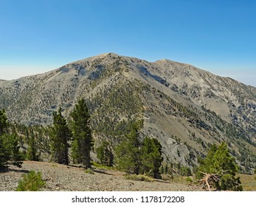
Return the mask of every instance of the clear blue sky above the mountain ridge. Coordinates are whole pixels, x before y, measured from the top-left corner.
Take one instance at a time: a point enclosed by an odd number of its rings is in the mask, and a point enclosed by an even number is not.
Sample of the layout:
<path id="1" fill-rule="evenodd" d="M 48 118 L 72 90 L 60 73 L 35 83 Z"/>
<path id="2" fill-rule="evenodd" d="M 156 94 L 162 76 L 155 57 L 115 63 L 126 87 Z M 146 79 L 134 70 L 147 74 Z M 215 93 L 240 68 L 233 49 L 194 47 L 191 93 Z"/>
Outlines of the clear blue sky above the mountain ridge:
<path id="1" fill-rule="evenodd" d="M 255 11 L 254 0 L 1 0 L 0 79 L 114 52 L 256 86 Z"/>

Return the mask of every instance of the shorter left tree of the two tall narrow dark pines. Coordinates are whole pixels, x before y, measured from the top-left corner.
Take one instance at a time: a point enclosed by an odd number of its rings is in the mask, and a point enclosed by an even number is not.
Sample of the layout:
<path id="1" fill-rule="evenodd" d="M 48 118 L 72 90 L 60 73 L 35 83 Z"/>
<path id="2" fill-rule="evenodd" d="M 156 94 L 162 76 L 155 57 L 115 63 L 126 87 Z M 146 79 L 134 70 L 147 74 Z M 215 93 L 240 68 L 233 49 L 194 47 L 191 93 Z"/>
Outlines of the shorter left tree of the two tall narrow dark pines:
<path id="1" fill-rule="evenodd" d="M 60 164 L 69 164 L 69 141 L 72 132 L 69 129 L 66 119 L 61 114 L 61 107 L 53 113 L 53 126 L 51 134 L 52 160 Z"/>

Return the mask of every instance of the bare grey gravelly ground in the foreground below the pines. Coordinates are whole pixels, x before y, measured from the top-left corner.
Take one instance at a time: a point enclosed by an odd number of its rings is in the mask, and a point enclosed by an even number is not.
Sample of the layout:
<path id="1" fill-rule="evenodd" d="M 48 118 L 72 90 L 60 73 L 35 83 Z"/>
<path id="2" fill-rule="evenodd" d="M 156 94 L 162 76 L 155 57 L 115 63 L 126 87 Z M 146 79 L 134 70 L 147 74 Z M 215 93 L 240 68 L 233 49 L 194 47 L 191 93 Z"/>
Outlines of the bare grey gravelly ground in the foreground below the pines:
<path id="1" fill-rule="evenodd" d="M 24 161 L 22 168 L 10 167 L 10 171 L 0 173 L 0 191 L 15 191 L 22 174 L 31 170 L 41 171 L 46 180 L 43 191 L 200 191 L 186 183 L 125 180 L 120 171 L 95 168 L 94 174 L 88 174 L 84 168 L 32 161 Z"/>

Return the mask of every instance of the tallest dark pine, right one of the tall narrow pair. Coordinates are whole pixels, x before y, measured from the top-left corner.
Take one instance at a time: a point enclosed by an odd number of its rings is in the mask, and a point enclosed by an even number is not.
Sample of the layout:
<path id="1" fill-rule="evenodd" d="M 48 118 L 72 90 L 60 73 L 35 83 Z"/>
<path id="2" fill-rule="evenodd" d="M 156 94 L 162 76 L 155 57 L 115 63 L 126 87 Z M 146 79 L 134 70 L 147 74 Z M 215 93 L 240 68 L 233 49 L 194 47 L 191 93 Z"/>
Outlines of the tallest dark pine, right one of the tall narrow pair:
<path id="1" fill-rule="evenodd" d="M 75 163 L 91 167 L 91 147 L 94 145 L 90 128 L 90 115 L 85 99 L 80 99 L 70 114 L 74 141 L 72 143 L 72 158 Z"/>

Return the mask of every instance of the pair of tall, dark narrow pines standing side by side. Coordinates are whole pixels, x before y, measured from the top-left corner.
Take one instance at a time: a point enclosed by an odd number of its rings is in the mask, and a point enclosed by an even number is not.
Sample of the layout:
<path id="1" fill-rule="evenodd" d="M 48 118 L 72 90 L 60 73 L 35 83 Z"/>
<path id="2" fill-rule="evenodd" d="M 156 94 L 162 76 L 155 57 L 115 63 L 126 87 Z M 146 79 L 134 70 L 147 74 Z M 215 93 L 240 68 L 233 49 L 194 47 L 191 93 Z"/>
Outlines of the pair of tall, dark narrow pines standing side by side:
<path id="1" fill-rule="evenodd" d="M 69 164 L 69 147 L 72 148 L 74 163 L 81 163 L 86 168 L 91 166 L 90 151 L 93 138 L 90 129 L 90 115 L 86 101 L 80 99 L 71 113 L 72 121 L 67 124 L 61 114 L 53 113 L 53 126 L 51 134 L 52 160 L 60 164 Z M 72 145 L 70 146 L 70 142 Z"/>

